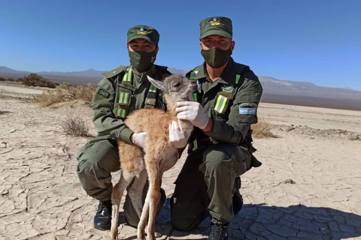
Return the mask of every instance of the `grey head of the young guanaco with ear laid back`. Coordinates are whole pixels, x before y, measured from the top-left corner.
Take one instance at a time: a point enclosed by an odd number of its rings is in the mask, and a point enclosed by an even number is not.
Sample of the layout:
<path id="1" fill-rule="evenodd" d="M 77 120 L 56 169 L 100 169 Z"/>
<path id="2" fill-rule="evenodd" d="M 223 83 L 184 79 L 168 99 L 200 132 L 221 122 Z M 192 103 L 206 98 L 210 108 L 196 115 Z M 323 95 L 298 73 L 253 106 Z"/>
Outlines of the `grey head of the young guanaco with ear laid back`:
<path id="1" fill-rule="evenodd" d="M 154 87 L 163 92 L 163 97 L 167 102 L 169 110 L 176 108 L 177 101 L 188 101 L 188 96 L 197 90 L 194 80 L 189 80 L 180 74 L 173 74 L 163 81 L 147 77 Z"/>

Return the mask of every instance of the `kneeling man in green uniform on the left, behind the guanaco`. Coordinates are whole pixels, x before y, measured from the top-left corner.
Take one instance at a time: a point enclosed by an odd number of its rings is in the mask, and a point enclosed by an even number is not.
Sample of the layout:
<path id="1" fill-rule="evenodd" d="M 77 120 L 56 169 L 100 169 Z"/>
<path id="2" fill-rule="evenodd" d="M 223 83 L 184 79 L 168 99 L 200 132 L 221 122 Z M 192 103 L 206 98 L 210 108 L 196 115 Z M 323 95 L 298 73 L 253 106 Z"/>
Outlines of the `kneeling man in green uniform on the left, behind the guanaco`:
<path id="1" fill-rule="evenodd" d="M 154 64 L 159 49 L 158 42 L 159 33 L 156 29 L 145 25 L 130 28 L 127 32 L 127 48 L 131 65 L 119 66 L 104 73 L 91 102 L 93 123 L 98 134 L 79 150 L 76 172 L 86 193 L 99 200 L 94 217 L 94 227 L 99 230 L 109 230 L 111 227 L 111 172 L 120 170 L 116 140 L 122 139 L 128 144 L 144 147 L 146 133 L 133 133 L 124 125 L 124 118 L 140 108 L 156 107 L 166 110 L 160 93 L 147 79 L 147 75 L 157 80 L 171 75 L 167 67 Z M 176 146 L 185 145 L 184 140 L 179 141 L 177 134 L 176 130 L 170 128 L 171 143 Z M 143 201 L 147 188 L 148 183 L 143 191 Z M 164 190 L 161 189 L 160 192 L 158 213 L 166 199 Z M 127 222 L 137 226 L 139 218 L 128 195 L 123 208 Z"/>

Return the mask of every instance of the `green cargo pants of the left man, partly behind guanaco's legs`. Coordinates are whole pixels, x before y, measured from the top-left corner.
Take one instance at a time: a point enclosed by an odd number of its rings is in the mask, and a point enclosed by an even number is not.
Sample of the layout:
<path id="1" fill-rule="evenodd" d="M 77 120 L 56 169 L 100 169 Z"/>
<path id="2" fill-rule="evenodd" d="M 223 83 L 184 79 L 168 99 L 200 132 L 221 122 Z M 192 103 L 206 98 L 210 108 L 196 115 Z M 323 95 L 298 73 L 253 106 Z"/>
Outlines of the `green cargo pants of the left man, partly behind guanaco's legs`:
<path id="1" fill-rule="evenodd" d="M 111 172 L 120 170 L 117 142 L 107 137 L 96 137 L 79 149 L 77 160 L 76 173 L 85 192 L 89 196 L 101 201 L 111 199 L 113 191 Z M 131 185 L 132 182 L 127 190 Z M 148 181 L 143 189 L 143 204 L 147 191 Z M 161 189 L 160 192 L 161 199 L 157 207 L 157 214 L 161 212 L 166 200 L 165 191 Z M 130 202 L 128 194 L 125 196 L 123 210 L 128 223 L 136 227 L 139 217 Z"/>

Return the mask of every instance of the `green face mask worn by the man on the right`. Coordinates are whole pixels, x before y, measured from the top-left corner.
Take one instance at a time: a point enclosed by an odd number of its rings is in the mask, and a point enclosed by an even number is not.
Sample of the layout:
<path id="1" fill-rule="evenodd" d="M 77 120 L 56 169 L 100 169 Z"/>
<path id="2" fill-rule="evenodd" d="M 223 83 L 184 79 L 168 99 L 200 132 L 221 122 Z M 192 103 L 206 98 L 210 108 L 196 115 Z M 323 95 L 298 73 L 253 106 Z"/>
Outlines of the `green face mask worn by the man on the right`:
<path id="1" fill-rule="evenodd" d="M 227 50 L 219 48 L 211 48 L 209 50 L 202 49 L 201 54 L 209 66 L 212 68 L 220 68 L 226 64 L 232 54 L 232 50 L 231 48 L 228 48 Z"/>

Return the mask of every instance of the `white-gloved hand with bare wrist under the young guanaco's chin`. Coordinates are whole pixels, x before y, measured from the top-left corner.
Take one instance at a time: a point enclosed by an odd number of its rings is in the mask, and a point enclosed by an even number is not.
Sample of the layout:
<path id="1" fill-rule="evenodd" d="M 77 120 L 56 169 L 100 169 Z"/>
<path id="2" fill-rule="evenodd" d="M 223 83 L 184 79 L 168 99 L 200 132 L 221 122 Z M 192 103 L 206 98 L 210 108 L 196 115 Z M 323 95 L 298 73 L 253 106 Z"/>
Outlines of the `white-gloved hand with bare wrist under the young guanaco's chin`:
<path id="1" fill-rule="evenodd" d="M 192 100 L 191 96 L 188 98 Z M 202 105 L 196 101 L 177 102 L 176 112 L 178 112 L 178 119 L 188 120 L 200 129 L 204 129 L 209 121 L 209 117 L 204 113 Z"/>

